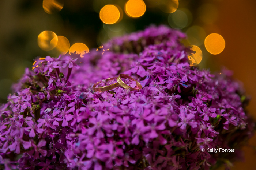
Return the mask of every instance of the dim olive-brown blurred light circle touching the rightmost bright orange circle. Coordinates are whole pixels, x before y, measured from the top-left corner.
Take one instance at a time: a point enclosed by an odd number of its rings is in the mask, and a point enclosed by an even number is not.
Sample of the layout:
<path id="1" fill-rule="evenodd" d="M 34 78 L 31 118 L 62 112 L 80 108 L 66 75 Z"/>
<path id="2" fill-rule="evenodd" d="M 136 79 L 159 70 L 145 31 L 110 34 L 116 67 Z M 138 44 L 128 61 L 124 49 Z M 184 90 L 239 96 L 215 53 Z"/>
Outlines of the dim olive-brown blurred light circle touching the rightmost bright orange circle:
<path id="1" fill-rule="evenodd" d="M 186 31 L 189 44 L 200 46 L 204 43 L 206 33 L 202 27 L 192 26 Z"/>

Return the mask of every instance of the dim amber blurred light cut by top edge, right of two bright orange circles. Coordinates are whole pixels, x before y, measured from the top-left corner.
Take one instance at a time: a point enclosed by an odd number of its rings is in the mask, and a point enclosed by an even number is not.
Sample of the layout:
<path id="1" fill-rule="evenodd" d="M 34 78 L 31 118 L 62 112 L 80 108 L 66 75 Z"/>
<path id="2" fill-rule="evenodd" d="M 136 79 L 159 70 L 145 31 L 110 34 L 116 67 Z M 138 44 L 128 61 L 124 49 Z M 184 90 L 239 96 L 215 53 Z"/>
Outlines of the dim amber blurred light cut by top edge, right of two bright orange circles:
<path id="1" fill-rule="evenodd" d="M 178 9 L 179 1 L 177 0 L 159 0 L 159 8 L 165 13 L 173 13 Z"/>

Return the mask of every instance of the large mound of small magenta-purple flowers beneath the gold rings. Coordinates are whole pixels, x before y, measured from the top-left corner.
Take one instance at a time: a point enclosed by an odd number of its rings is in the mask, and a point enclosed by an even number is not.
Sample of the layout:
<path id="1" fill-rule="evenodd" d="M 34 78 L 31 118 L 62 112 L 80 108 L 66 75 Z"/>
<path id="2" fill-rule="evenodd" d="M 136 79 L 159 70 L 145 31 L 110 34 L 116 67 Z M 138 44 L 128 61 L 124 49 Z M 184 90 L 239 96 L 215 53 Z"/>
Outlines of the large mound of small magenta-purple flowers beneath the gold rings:
<path id="1" fill-rule="evenodd" d="M 191 67 L 184 37 L 151 26 L 26 69 L 0 107 L 0 169 L 229 168 L 253 135 L 248 98 L 230 71 Z M 143 88 L 93 91 L 119 74 Z"/>

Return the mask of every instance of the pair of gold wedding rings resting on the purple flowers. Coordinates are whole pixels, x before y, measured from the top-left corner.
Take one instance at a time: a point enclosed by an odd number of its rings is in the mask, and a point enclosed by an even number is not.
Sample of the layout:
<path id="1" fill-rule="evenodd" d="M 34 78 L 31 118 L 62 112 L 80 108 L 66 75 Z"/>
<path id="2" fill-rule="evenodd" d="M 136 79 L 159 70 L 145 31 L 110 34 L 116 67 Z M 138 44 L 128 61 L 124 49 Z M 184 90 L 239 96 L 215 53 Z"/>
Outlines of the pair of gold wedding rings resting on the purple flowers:
<path id="1" fill-rule="evenodd" d="M 128 86 L 127 84 L 125 84 L 123 82 L 123 80 L 121 80 L 121 78 L 125 78 L 125 79 L 132 79 L 136 82 L 136 85 L 138 88 L 133 88 L 131 86 Z M 105 81 L 108 82 L 108 81 L 111 81 L 111 80 L 114 80 L 114 79 L 117 79 L 117 83 L 114 83 L 114 84 L 111 84 L 109 86 L 100 86 L 100 87 L 96 87 L 99 83 L 101 83 L 101 81 L 95 83 L 93 85 L 93 91 L 99 91 L 99 92 L 102 92 L 102 91 L 108 91 L 108 90 L 112 90 L 113 88 L 116 88 L 118 86 L 122 86 L 123 88 L 128 88 L 130 90 L 140 90 L 142 89 L 142 85 L 135 79 L 133 79 L 131 76 L 128 76 L 126 74 L 120 74 L 118 77 L 112 77 L 112 78 L 108 78 L 106 79 Z"/>

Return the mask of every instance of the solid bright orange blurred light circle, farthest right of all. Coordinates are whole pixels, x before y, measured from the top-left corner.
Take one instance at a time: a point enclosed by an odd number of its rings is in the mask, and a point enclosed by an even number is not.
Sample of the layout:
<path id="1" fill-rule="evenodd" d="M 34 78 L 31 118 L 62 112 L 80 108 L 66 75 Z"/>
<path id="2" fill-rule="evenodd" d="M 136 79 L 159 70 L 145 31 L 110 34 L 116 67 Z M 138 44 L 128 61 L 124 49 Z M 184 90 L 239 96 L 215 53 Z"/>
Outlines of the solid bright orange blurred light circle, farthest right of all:
<path id="1" fill-rule="evenodd" d="M 204 40 L 204 46 L 211 54 L 219 54 L 225 48 L 225 40 L 218 33 L 211 33 Z"/>

